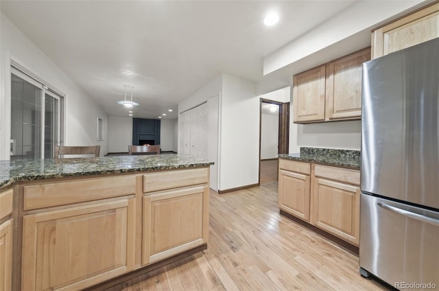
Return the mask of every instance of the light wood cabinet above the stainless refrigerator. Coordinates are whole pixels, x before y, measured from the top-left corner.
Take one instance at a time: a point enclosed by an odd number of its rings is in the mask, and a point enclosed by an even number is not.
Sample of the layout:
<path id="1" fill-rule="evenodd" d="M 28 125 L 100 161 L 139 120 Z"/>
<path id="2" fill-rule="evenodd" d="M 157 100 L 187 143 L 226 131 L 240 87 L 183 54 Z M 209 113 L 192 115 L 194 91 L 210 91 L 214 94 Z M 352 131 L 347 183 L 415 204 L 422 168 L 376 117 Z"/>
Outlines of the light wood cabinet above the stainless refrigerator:
<path id="1" fill-rule="evenodd" d="M 412 47 L 439 37 L 439 3 L 436 1 L 372 32 L 372 58 Z"/>

